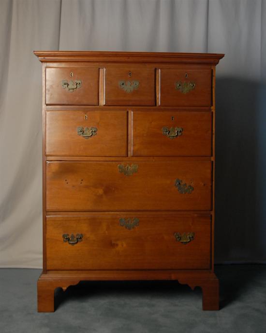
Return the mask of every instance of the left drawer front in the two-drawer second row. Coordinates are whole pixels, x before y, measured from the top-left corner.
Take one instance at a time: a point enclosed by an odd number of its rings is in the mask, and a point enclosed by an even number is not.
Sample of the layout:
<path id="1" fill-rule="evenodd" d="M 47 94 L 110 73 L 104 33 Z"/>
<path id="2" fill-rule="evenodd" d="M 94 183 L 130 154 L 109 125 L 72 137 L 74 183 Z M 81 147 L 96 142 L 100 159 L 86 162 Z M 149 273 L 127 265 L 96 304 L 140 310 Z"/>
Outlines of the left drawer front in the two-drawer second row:
<path id="1" fill-rule="evenodd" d="M 126 156 L 127 112 L 46 112 L 46 155 Z"/>

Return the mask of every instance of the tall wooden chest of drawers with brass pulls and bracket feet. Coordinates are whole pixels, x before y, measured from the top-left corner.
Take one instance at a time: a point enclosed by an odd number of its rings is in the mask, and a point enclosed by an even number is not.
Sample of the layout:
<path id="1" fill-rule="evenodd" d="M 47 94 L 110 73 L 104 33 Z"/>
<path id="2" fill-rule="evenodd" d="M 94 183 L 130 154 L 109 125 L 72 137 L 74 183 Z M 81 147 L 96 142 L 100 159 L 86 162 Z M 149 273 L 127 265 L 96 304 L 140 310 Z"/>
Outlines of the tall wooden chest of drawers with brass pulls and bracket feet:
<path id="1" fill-rule="evenodd" d="M 38 311 L 81 280 L 178 280 L 219 309 L 215 66 L 222 54 L 34 52 L 43 63 Z"/>

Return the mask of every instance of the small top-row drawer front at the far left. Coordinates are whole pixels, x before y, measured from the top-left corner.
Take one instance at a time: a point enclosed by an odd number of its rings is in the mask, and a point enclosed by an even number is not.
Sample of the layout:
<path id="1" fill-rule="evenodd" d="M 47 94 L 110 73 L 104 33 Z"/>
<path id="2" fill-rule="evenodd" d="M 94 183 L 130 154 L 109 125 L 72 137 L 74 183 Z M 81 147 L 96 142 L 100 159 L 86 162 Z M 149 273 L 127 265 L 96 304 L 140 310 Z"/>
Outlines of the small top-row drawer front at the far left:
<path id="1" fill-rule="evenodd" d="M 47 105 L 97 105 L 98 68 L 46 68 Z"/>

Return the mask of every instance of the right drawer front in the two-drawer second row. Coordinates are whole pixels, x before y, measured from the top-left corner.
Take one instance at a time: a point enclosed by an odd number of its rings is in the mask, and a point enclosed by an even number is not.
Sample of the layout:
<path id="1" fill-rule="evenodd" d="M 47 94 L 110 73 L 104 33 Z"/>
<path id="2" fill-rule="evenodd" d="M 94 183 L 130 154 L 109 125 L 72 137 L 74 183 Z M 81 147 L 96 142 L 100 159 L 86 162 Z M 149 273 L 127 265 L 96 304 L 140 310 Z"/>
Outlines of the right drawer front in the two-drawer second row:
<path id="1" fill-rule="evenodd" d="M 133 156 L 210 156 L 211 112 L 132 112 Z"/>

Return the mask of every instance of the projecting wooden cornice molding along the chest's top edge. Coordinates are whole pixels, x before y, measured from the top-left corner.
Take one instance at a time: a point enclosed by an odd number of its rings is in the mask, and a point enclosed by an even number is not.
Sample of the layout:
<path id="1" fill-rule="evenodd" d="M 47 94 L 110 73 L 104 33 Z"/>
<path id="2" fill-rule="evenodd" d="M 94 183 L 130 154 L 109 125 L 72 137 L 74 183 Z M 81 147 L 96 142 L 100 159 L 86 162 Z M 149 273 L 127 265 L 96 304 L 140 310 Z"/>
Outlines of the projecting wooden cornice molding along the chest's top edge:
<path id="1" fill-rule="evenodd" d="M 41 62 L 175 62 L 217 65 L 219 53 L 106 52 L 106 51 L 34 51 Z"/>

